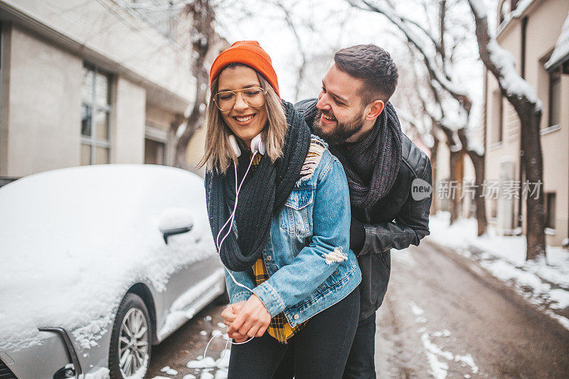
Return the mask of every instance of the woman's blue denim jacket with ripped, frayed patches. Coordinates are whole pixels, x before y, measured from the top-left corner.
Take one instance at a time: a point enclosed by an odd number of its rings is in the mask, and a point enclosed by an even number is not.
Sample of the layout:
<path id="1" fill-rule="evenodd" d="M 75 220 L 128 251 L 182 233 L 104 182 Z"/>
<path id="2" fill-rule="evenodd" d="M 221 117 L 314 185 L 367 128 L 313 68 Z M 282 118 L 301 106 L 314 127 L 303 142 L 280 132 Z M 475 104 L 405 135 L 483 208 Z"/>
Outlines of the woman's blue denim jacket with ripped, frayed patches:
<path id="1" fill-rule="evenodd" d="M 231 273 L 252 289 L 271 317 L 285 311 L 294 327 L 344 299 L 361 282 L 356 255 L 349 250 L 350 220 L 346 174 L 325 149 L 314 173 L 297 181 L 272 218 L 262 252 L 270 278 L 255 286 L 252 268 Z M 225 283 L 232 304 L 251 296 L 227 272 Z"/>

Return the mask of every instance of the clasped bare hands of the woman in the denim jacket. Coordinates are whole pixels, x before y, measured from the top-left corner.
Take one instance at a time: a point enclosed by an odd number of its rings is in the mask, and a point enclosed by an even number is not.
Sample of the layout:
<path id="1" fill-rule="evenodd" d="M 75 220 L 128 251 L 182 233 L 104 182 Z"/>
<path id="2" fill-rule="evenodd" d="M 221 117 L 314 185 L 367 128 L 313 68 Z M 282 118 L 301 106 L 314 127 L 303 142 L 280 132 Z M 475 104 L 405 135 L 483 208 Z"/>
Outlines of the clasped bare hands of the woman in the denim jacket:
<path id="1" fill-rule="evenodd" d="M 229 338 L 240 343 L 250 337 L 262 336 L 271 321 L 271 315 L 265 304 L 252 294 L 247 301 L 229 304 L 221 313 L 223 324 L 229 327 Z"/>

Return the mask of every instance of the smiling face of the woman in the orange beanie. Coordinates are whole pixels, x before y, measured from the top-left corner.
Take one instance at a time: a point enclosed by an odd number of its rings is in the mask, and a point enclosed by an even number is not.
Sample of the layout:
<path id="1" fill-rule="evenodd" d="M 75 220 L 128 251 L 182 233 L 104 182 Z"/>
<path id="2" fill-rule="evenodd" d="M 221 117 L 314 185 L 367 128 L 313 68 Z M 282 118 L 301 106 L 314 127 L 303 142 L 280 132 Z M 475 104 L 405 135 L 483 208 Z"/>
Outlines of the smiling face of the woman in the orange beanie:
<path id="1" fill-rule="evenodd" d="M 219 74 L 218 92 L 242 90 L 243 88 L 260 87 L 257 73 L 250 67 L 239 65 L 225 68 Z M 251 140 L 259 134 L 267 124 L 267 107 L 251 107 L 243 100 L 243 92 L 235 98 L 235 105 L 227 111 L 220 111 L 225 124 L 233 134 L 241 139 L 249 148 Z"/>

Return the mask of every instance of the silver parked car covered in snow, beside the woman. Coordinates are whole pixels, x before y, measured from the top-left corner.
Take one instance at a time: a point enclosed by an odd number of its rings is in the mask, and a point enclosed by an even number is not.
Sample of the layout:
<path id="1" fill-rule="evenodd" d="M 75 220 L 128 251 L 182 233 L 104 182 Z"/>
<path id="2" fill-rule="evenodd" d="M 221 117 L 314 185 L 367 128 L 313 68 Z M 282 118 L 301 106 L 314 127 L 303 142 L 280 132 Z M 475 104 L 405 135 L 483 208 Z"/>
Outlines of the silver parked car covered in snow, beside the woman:
<path id="1" fill-rule="evenodd" d="M 110 164 L 0 188 L 2 378 L 142 378 L 152 345 L 225 296 L 195 174 Z"/>

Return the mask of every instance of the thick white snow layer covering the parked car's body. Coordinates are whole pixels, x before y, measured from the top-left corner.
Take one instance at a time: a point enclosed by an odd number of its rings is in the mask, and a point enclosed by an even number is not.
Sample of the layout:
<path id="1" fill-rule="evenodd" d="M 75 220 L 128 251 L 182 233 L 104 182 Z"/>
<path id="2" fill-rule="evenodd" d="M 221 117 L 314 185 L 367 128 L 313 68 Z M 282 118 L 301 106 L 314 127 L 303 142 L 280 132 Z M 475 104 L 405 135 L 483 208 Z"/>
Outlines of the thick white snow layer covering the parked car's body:
<path id="1" fill-rule="evenodd" d="M 193 229 L 166 245 L 168 208 L 191 211 Z M 211 255 L 203 181 L 188 171 L 98 165 L 10 183 L 0 188 L 0 351 L 41 343 L 41 326 L 95 346 L 135 280 L 164 291 L 177 269 Z"/>

